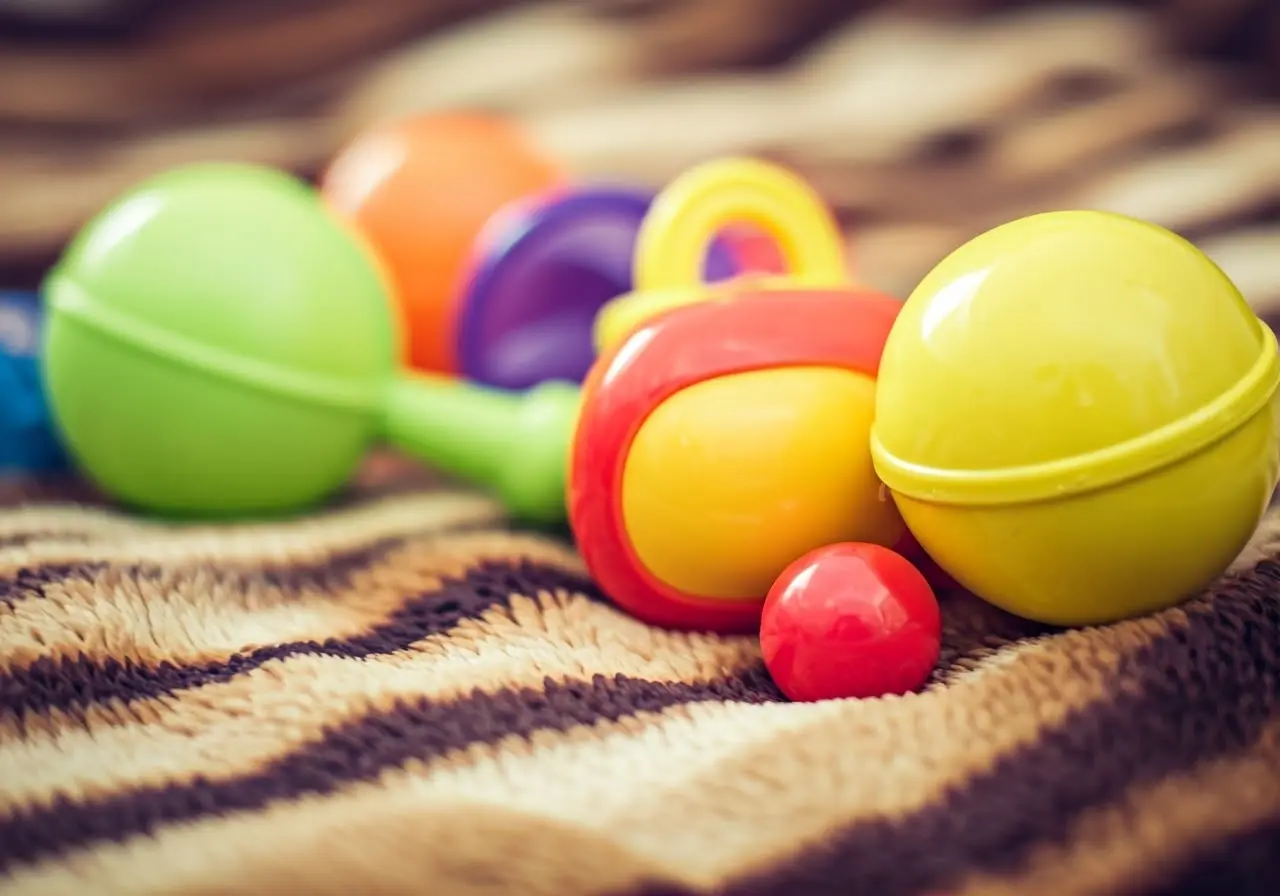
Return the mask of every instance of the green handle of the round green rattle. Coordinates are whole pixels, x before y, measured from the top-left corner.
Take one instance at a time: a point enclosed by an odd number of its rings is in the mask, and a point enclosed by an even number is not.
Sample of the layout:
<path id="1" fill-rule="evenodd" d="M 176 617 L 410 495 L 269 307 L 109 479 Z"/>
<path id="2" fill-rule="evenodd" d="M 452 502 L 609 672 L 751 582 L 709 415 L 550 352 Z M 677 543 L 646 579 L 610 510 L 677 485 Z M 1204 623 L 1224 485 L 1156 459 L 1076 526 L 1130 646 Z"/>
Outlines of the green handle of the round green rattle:
<path id="1" fill-rule="evenodd" d="M 401 374 L 383 407 L 383 434 L 434 468 L 492 489 L 513 517 L 566 520 L 564 485 L 581 390 L 547 381 L 527 392 Z"/>

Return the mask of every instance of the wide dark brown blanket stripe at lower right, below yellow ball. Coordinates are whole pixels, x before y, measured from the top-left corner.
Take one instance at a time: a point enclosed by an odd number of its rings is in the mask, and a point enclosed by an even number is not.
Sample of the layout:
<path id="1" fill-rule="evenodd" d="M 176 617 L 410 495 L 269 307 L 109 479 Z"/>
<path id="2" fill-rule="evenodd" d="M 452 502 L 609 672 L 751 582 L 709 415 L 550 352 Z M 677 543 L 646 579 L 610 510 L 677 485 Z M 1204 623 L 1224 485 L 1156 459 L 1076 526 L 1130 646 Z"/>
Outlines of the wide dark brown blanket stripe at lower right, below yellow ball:
<path id="1" fill-rule="evenodd" d="M 1167 631 L 1121 659 L 1106 699 L 916 812 L 855 822 L 721 888 L 639 892 L 896 896 L 1012 873 L 1037 845 L 1061 842 L 1082 813 L 1258 740 L 1280 707 L 1277 590 L 1280 563 L 1266 561 L 1197 602 L 1185 625 L 1183 611 L 1161 614 Z"/>

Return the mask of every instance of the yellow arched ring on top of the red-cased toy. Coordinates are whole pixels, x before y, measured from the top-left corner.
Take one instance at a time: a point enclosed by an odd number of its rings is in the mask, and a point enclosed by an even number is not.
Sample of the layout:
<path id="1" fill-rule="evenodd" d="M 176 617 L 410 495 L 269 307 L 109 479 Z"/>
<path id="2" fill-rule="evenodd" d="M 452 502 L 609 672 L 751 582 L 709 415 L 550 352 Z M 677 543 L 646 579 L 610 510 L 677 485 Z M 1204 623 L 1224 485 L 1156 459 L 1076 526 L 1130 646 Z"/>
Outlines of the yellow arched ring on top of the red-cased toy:
<path id="1" fill-rule="evenodd" d="M 847 283 L 840 227 L 808 183 L 756 159 L 717 159 L 689 169 L 654 200 L 636 237 L 636 292 L 700 285 L 712 239 L 739 223 L 777 243 L 792 282 Z"/>

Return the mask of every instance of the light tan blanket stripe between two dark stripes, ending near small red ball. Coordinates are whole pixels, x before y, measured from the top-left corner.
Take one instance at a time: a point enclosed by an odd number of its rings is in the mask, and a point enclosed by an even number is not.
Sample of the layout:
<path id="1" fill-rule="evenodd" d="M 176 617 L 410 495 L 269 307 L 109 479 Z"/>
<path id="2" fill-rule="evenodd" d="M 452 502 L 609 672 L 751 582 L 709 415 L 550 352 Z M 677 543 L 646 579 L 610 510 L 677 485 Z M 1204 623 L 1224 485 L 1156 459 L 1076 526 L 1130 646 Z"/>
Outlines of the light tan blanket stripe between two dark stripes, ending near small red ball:
<path id="1" fill-rule="evenodd" d="M 655 631 L 581 594 L 512 595 L 402 650 L 360 658 L 301 654 L 200 690 L 134 700 L 83 726 L 0 741 L 0 813 L 131 787 L 252 774 L 328 728 L 425 698 L 444 705 L 474 691 L 540 687 L 547 678 L 623 675 L 708 681 L 759 666 L 751 637 Z M 246 712 L 251 708 L 251 712 Z"/>

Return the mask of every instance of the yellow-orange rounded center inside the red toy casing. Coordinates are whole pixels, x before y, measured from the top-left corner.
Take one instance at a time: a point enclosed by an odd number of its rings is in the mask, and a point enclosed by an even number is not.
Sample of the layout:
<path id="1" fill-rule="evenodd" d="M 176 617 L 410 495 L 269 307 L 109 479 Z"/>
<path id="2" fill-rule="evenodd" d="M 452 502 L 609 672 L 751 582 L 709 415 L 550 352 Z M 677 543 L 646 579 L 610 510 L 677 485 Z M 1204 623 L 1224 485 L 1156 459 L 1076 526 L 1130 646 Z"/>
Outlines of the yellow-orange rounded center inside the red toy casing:
<path id="1" fill-rule="evenodd" d="M 867 452 L 874 406 L 876 380 L 840 367 L 675 393 L 636 431 L 622 476 L 636 558 L 680 591 L 750 600 L 817 544 L 892 544 L 901 522 Z"/>

